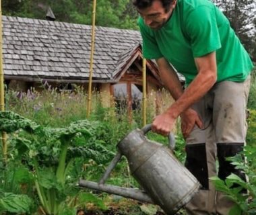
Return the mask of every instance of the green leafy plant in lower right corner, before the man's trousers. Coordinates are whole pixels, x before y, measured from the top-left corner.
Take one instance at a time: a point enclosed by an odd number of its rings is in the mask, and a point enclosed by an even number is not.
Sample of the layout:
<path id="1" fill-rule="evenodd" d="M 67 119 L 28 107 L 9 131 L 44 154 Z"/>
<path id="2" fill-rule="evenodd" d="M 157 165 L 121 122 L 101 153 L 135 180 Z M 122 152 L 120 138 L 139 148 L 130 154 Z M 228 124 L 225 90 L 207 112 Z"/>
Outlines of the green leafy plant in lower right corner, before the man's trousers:
<path id="1" fill-rule="evenodd" d="M 243 157 L 247 157 L 247 162 Z M 231 174 L 226 177 L 225 181 L 219 177 L 211 177 L 218 191 L 226 193 L 235 206 L 230 210 L 229 215 L 249 215 L 256 214 L 256 149 L 251 146 L 245 147 L 244 153 L 238 154 L 227 159 L 236 166 L 236 169 L 241 169 L 245 172 L 249 181 L 243 181 L 237 175 Z M 246 189 L 248 192 L 242 192 Z"/>

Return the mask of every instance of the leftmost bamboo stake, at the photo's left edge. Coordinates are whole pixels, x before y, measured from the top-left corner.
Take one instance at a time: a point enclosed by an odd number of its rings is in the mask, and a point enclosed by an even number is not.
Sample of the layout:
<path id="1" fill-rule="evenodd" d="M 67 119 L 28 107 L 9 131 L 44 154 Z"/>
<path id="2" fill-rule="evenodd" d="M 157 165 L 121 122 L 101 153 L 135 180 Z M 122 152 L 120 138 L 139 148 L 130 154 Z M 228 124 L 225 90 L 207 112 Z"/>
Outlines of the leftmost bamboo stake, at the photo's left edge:
<path id="1" fill-rule="evenodd" d="M 5 111 L 5 87 L 4 87 L 4 77 L 3 77 L 3 36 L 2 36 L 2 7 L 0 0 L 0 106 L 1 112 Z M 7 135 L 5 132 L 2 132 L 2 146 L 3 146 L 3 160 L 7 162 Z"/>

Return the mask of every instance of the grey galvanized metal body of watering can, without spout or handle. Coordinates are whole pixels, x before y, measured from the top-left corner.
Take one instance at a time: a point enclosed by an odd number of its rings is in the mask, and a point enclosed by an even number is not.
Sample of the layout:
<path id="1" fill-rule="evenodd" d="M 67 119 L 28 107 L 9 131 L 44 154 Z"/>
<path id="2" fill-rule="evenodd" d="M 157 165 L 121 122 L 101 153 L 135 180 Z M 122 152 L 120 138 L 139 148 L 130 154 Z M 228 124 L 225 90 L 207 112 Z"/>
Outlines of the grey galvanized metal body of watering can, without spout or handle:
<path id="1" fill-rule="evenodd" d="M 117 145 L 127 157 L 133 177 L 166 214 L 175 214 L 199 190 L 197 179 L 172 150 L 133 130 Z"/>

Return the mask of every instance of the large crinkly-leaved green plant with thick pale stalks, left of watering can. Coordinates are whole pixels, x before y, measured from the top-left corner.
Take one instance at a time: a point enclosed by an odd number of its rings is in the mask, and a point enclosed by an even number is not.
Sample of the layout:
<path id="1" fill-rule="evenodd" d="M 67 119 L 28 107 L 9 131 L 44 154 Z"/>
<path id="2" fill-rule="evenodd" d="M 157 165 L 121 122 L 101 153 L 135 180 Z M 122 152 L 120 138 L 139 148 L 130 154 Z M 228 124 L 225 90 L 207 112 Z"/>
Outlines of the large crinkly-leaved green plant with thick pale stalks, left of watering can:
<path id="1" fill-rule="evenodd" d="M 13 158 L 9 157 L 9 163 L 20 161 L 24 164 L 20 172 L 26 175 L 22 179 L 26 179 L 24 182 L 28 183 L 28 176 L 31 177 L 30 183 L 34 184 L 46 214 L 64 214 L 64 210 L 69 209 L 66 207 L 67 198 L 77 199 L 79 191 L 75 184 L 83 175 L 82 167 L 86 159 L 92 158 L 98 163 L 107 163 L 110 157 L 113 157 L 113 153 L 101 145 L 94 143 L 89 146 L 88 140 L 94 136 L 98 126 L 98 122 L 79 120 L 69 126 L 51 128 L 40 126 L 13 112 L 0 112 L 0 132 L 9 134 L 9 144 L 15 148 L 11 153 Z M 15 171 L 15 175 L 18 175 L 18 171 Z M 11 202 L 19 196 L 8 194 L 7 197 L 11 197 L 8 199 Z M 88 195 L 82 198 L 92 199 Z M 24 202 L 28 200 L 26 197 Z M 104 204 L 98 206 L 106 209 Z M 29 210 L 17 208 L 15 211 L 22 209 L 24 212 Z M 5 207 L 3 210 L 10 208 Z"/>

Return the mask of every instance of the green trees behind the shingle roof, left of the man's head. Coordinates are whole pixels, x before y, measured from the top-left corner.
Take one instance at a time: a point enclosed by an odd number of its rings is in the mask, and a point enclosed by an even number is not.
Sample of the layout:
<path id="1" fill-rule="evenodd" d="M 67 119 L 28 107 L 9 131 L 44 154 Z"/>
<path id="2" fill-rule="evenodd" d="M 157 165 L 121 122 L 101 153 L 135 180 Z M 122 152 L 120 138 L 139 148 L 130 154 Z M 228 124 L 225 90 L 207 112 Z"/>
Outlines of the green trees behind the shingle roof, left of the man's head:
<path id="1" fill-rule="evenodd" d="M 3 14 L 45 19 L 51 7 L 56 20 L 76 24 L 92 24 L 92 0 L 8 0 L 3 3 Z M 98 0 L 96 25 L 137 29 L 137 12 L 129 0 Z"/>

